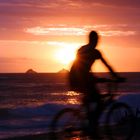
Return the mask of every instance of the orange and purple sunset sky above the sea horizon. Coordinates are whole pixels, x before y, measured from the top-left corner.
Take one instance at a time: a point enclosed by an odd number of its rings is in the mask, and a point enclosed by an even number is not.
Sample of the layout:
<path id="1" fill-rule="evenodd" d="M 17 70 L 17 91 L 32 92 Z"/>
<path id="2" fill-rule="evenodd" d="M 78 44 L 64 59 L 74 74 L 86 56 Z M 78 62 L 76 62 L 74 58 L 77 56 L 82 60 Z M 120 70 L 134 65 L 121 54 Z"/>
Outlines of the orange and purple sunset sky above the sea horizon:
<path id="1" fill-rule="evenodd" d="M 0 0 L 0 73 L 69 69 L 91 30 L 114 70 L 140 71 L 139 0 Z"/>

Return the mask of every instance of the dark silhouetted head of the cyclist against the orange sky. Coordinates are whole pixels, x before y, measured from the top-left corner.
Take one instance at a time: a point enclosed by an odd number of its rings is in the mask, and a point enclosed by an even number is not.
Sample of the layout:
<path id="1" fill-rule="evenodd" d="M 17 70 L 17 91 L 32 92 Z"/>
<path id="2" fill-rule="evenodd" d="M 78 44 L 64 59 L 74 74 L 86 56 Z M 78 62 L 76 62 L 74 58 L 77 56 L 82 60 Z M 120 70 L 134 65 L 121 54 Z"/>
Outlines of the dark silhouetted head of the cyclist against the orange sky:
<path id="1" fill-rule="evenodd" d="M 98 34 L 96 31 L 91 31 L 89 33 L 89 44 L 92 45 L 92 47 L 95 47 L 97 45 L 97 42 L 98 42 Z"/>

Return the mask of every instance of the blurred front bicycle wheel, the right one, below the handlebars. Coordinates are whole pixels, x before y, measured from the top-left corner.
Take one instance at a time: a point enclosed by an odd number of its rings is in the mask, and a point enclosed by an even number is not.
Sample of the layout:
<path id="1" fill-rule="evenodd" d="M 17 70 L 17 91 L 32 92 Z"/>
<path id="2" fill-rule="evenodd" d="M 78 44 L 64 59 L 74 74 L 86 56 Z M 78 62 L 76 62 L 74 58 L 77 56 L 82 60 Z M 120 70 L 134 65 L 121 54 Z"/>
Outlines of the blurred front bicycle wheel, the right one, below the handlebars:
<path id="1" fill-rule="evenodd" d="M 106 117 L 107 136 L 110 140 L 130 140 L 135 131 L 135 117 L 125 103 L 115 103 Z"/>

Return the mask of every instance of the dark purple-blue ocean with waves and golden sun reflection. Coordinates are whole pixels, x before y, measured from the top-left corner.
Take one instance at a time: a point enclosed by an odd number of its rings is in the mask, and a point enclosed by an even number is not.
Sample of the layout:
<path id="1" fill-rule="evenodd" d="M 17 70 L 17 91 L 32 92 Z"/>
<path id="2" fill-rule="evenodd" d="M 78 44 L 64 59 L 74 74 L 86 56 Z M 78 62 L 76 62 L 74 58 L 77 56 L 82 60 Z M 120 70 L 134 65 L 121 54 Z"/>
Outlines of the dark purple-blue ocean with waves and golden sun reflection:
<path id="1" fill-rule="evenodd" d="M 117 100 L 128 103 L 140 117 L 140 72 L 119 73 Z M 108 77 L 108 73 L 96 73 Z M 106 84 L 99 84 L 101 93 Z M 67 73 L 0 74 L 0 139 L 49 131 L 53 116 L 62 108 L 80 105 L 81 93 L 69 91 Z"/>

